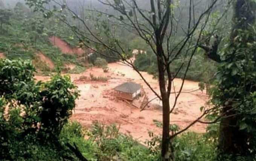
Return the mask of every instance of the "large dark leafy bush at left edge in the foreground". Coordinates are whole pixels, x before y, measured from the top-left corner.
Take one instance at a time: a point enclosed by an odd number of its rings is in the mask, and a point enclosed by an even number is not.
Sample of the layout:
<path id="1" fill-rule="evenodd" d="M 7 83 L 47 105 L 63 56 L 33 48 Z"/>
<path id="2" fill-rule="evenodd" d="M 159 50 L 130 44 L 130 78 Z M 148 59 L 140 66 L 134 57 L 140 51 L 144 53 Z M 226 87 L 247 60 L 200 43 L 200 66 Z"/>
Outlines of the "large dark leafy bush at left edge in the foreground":
<path id="1" fill-rule="evenodd" d="M 35 154 L 43 147 L 58 146 L 50 144 L 58 142 L 53 138 L 75 107 L 78 90 L 69 77 L 57 74 L 49 82 L 35 82 L 34 72 L 30 61 L 0 60 L 1 159 L 38 160 Z"/>

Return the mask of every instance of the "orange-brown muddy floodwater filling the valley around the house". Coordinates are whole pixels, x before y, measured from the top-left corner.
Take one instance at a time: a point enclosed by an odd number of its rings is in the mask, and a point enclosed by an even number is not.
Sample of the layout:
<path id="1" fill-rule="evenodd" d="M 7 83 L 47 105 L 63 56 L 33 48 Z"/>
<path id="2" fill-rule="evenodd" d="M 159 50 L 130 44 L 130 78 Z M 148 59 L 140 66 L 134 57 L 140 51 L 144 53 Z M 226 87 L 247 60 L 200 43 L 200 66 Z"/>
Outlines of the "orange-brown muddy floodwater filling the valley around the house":
<path id="1" fill-rule="evenodd" d="M 142 85 L 149 100 L 155 98 L 155 95 L 132 68 L 122 63 L 111 63 L 108 66 L 110 68 L 108 73 L 104 73 L 101 68 L 94 67 L 87 69 L 82 74 L 71 75 L 72 81 L 81 91 L 71 119 L 79 121 L 84 127 L 90 127 L 92 122 L 96 120 L 107 125 L 117 124 L 122 133 L 131 135 L 142 143 L 150 139 L 148 131 L 160 134 L 162 130 L 154 124 L 153 120 L 162 121 L 161 102 L 155 99 L 149 103 L 149 108 L 147 107 L 140 112 L 140 109 L 118 100 L 113 94 L 113 88 L 128 81 Z M 90 73 L 94 76 L 105 76 L 108 81 L 94 82 L 79 79 L 81 76 L 90 78 Z M 152 75 L 148 73 L 142 72 L 142 75 L 159 93 L 157 80 L 152 79 Z M 37 79 L 47 80 L 49 77 L 37 76 Z M 181 83 L 181 79 L 174 80 L 176 91 L 180 88 Z M 201 114 L 200 107 L 205 105 L 208 97 L 201 91 L 186 93 L 195 89 L 198 89 L 198 82 L 185 81 L 184 93 L 181 93 L 176 109 L 171 114 L 171 124 L 177 124 L 184 128 Z M 172 89 L 173 91 L 174 89 Z M 175 94 L 172 94 L 171 104 L 173 104 L 174 98 Z M 206 126 L 203 124 L 195 124 L 190 128 L 190 131 L 203 133 L 205 128 Z"/>

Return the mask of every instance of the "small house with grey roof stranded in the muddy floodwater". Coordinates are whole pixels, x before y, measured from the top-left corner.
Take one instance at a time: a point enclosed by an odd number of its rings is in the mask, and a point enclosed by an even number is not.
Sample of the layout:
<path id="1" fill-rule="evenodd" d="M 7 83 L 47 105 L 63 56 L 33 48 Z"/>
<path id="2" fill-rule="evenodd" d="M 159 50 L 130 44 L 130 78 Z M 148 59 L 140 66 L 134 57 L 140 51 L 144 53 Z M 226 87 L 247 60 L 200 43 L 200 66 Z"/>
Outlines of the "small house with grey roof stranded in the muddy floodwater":
<path id="1" fill-rule="evenodd" d="M 136 83 L 126 82 L 114 88 L 115 95 L 118 98 L 123 98 L 132 101 L 141 92 L 141 86 Z"/>

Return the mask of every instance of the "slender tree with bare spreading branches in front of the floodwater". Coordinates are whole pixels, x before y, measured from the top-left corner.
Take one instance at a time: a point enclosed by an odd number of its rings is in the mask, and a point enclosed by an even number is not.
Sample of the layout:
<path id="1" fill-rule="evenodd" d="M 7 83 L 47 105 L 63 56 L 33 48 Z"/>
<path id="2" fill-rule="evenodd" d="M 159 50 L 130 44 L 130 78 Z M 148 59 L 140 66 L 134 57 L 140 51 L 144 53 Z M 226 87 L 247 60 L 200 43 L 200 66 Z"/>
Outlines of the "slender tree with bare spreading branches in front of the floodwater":
<path id="1" fill-rule="evenodd" d="M 189 3 L 183 9 L 187 12 L 186 25 L 181 24 L 181 9 L 178 1 L 175 0 L 149 0 L 149 8 L 141 7 L 138 1 L 131 0 L 99 0 L 100 3 L 105 4 L 107 7 L 117 11 L 118 14 L 111 14 L 111 12 L 104 12 L 102 10 L 90 9 L 90 13 L 97 15 L 97 21 L 95 19 L 90 21 L 89 16 L 78 12 L 69 7 L 67 3 L 59 3 L 56 0 L 26 0 L 27 4 L 34 9 L 34 11 L 43 11 L 46 17 L 56 16 L 63 24 L 66 24 L 75 33 L 77 37 L 83 42 L 83 45 L 90 48 L 94 52 L 104 55 L 99 52 L 97 48 L 93 46 L 102 46 L 111 51 L 113 56 L 107 56 L 113 59 L 120 59 L 122 62 L 132 67 L 141 76 L 146 85 L 154 92 L 156 97 L 162 101 L 163 106 L 163 131 L 162 131 L 162 160 L 169 161 L 174 160 L 173 149 L 171 146 L 171 140 L 178 134 L 186 131 L 189 127 L 198 122 L 204 115 L 210 110 L 205 110 L 200 117 L 191 122 L 186 128 L 177 131 L 176 133 L 170 134 L 170 114 L 175 109 L 178 97 L 181 94 L 184 79 L 186 73 L 189 70 L 190 63 L 192 63 L 192 57 L 195 55 L 198 46 L 202 44 L 203 31 L 209 28 L 208 22 L 211 18 L 211 13 L 214 11 L 214 7 L 218 0 L 211 1 L 197 1 L 189 0 Z M 52 7 L 45 7 L 45 4 L 54 4 Z M 47 5 L 48 6 L 48 5 Z M 195 12 L 199 10 L 200 12 Z M 69 14 L 68 14 L 69 13 Z M 69 21 L 70 17 L 75 21 Z M 222 16 L 219 16 L 221 19 Z M 106 20 L 111 23 L 106 23 Z M 76 24 L 83 25 L 77 27 Z M 96 23 L 98 30 L 92 30 L 90 23 Z M 134 66 L 133 61 L 128 58 L 130 51 L 123 47 L 118 36 L 115 34 L 117 26 L 122 26 L 123 30 L 128 30 L 134 34 L 140 36 L 152 50 L 157 57 L 157 68 L 158 68 L 158 81 L 160 87 L 160 94 L 158 91 L 153 89 L 149 82 L 142 76 L 139 70 Z M 216 26 L 215 26 L 216 27 Z M 212 30 L 216 28 L 213 27 Z M 182 39 L 177 41 L 176 37 L 182 33 Z M 105 40 L 104 37 L 111 37 L 111 40 Z M 174 98 L 171 99 L 171 89 L 174 88 L 173 80 L 180 72 L 172 70 L 172 62 L 180 57 L 180 55 L 188 55 L 188 63 L 183 63 L 180 69 L 184 68 L 186 72 L 183 75 L 183 83 L 180 89 L 175 92 Z M 167 80 L 167 81 L 166 81 Z"/>

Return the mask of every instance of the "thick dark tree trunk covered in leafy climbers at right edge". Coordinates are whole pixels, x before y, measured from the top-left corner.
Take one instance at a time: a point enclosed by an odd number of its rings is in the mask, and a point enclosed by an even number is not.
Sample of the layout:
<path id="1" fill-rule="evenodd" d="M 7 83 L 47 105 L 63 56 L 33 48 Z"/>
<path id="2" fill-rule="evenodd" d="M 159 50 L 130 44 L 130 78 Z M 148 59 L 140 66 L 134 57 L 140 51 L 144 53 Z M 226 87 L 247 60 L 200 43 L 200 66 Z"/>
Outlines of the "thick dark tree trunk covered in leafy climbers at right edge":
<path id="1" fill-rule="evenodd" d="M 219 154 L 232 160 L 236 156 L 246 156 L 249 160 L 256 153 L 256 1 L 233 1 L 232 21 L 224 49 L 218 50 L 217 35 L 213 45 L 200 47 L 210 59 L 220 63 L 212 92 L 216 110 L 211 113 L 216 117 L 213 122 L 220 122 Z"/>

